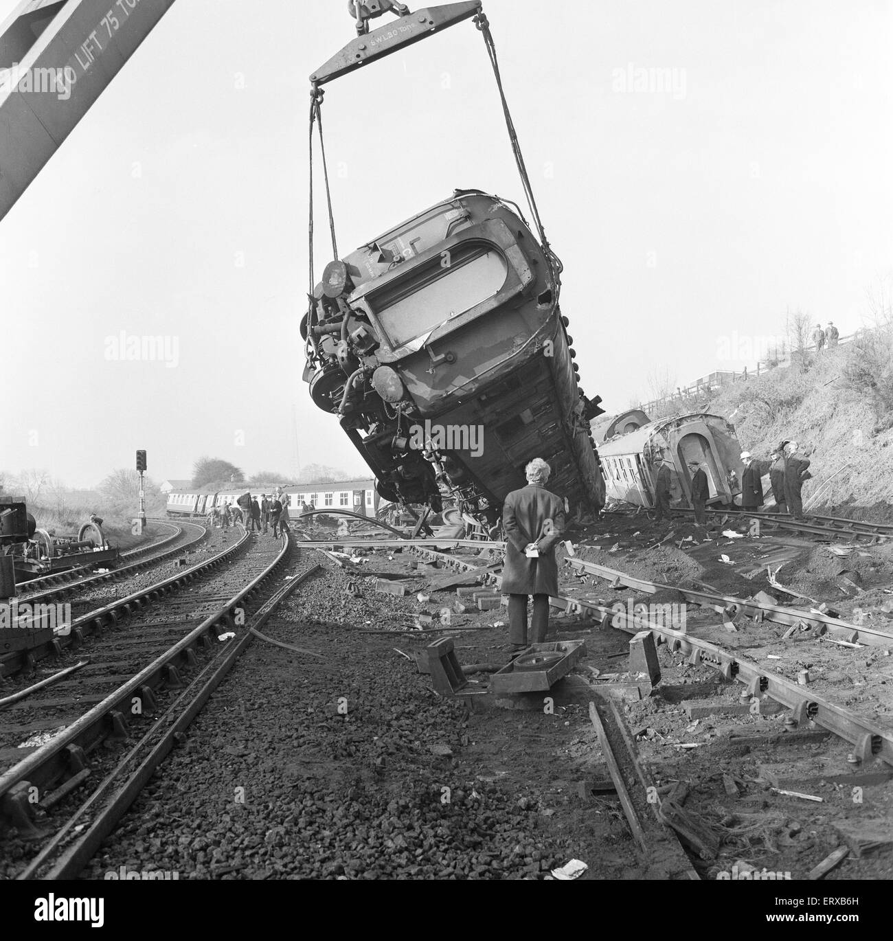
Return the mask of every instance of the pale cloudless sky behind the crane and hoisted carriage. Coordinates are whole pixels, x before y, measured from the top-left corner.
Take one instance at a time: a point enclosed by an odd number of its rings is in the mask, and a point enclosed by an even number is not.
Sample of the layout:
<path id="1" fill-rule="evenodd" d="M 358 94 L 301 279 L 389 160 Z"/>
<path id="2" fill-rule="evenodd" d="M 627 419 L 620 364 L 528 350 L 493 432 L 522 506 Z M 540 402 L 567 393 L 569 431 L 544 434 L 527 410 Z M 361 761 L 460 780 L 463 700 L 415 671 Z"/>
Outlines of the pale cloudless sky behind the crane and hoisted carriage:
<path id="1" fill-rule="evenodd" d="M 138 447 L 157 480 L 292 473 L 296 415 L 300 464 L 363 472 L 298 335 L 308 75 L 346 6 L 179 0 L 0 221 L 0 470 L 90 486 Z M 863 325 L 893 263 L 893 6 L 485 7 L 588 395 L 752 366 L 788 308 Z M 468 22 L 327 86 L 324 122 L 342 254 L 455 187 L 521 197 Z M 121 331 L 167 362 L 109 359 Z"/>

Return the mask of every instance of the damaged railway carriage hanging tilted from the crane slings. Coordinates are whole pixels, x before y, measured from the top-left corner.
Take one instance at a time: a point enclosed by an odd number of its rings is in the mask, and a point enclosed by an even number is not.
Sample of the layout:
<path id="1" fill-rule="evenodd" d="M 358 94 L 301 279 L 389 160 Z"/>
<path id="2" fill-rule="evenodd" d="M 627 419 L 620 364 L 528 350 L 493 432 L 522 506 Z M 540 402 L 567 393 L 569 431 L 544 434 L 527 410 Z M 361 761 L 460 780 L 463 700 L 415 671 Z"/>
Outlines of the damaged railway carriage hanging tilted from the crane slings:
<path id="1" fill-rule="evenodd" d="M 543 457 L 572 513 L 604 505 L 555 261 L 501 199 L 456 190 L 329 263 L 304 379 L 393 502 L 444 497 L 489 525 Z"/>

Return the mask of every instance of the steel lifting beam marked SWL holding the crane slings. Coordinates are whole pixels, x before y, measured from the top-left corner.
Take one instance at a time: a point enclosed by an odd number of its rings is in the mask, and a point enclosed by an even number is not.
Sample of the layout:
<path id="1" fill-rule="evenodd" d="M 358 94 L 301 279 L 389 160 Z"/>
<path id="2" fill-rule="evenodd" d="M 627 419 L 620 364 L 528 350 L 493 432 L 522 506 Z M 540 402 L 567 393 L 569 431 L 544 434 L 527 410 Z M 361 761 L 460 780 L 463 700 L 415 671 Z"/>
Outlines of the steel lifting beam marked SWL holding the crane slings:
<path id="1" fill-rule="evenodd" d="M 481 0 L 467 0 L 465 3 L 444 4 L 442 7 L 426 7 L 400 17 L 348 42 L 341 52 L 312 73 L 311 82 L 317 86 L 325 85 L 333 78 L 353 72 L 367 62 L 390 56 L 391 53 L 405 49 L 432 33 L 447 29 L 463 20 L 470 20 L 481 10 Z"/>

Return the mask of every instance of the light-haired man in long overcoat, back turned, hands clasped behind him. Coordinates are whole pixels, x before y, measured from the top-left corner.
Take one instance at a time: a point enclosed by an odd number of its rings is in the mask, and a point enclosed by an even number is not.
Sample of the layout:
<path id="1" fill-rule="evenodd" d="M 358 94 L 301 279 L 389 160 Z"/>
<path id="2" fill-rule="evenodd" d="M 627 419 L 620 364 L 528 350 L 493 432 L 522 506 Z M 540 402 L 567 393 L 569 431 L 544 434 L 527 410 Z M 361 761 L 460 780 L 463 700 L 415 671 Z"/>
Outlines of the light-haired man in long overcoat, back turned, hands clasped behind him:
<path id="1" fill-rule="evenodd" d="M 508 598 L 508 636 L 513 648 L 527 645 L 527 597 L 534 596 L 534 644 L 546 640 L 549 596 L 558 594 L 555 543 L 565 529 L 565 502 L 546 489 L 550 466 L 540 457 L 524 469 L 527 486 L 509 493 L 502 504 L 505 565 L 502 592 Z"/>

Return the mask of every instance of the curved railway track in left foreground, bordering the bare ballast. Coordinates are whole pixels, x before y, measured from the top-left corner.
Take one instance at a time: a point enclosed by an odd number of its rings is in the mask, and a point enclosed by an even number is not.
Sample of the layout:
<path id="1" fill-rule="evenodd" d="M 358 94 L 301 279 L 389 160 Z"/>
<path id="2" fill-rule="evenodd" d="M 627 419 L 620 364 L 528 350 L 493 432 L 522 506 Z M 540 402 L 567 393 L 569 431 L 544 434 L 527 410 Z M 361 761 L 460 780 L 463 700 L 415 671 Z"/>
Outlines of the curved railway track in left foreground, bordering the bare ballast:
<path id="1" fill-rule="evenodd" d="M 196 573 L 188 591 L 185 578 L 169 586 L 176 593 L 165 598 L 162 589 L 147 589 L 147 606 L 134 614 L 127 630 L 91 645 L 92 675 L 85 667 L 55 691 L 38 691 L 11 710 L 0 710 L 3 745 L 27 731 L 23 718 L 32 717 L 30 726 L 64 719 L 56 735 L 28 748 L 24 757 L 22 749 L 0 748 L 0 821 L 15 827 L 15 835 L 8 831 L 5 837 L 13 861 L 8 877 L 76 875 L 245 649 L 252 631 L 319 568 L 282 585 L 274 576 L 294 551 L 288 540 L 235 553 L 248 539 L 244 535 L 228 550 L 234 556 L 227 560 L 230 566 Z M 235 637 L 221 645 L 218 636 L 227 631 Z M 66 713 L 33 720 L 59 709 Z"/>

